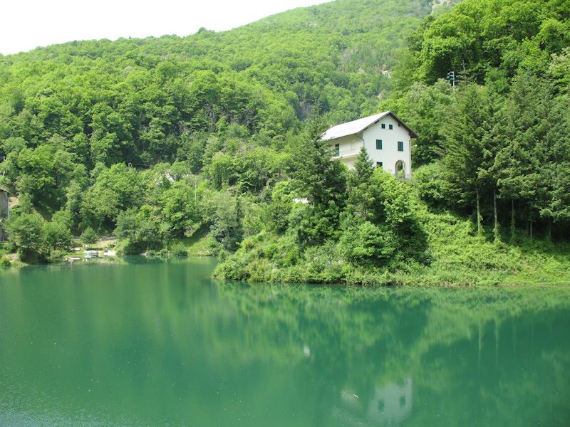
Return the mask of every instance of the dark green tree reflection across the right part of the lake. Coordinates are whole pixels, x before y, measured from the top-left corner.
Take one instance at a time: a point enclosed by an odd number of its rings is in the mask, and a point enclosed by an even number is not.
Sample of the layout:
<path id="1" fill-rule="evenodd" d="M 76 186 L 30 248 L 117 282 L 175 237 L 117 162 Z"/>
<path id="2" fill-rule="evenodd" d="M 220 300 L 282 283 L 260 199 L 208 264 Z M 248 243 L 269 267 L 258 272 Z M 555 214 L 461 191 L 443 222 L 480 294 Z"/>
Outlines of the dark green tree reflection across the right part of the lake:
<path id="1" fill-rule="evenodd" d="M 333 384 L 323 400 L 336 399 L 342 425 L 399 425 L 409 416 L 406 425 L 447 418 L 451 425 L 492 426 L 564 423 L 570 416 L 570 342 L 563 332 L 570 327 L 569 290 L 225 284 L 222 293 L 265 325 L 261 341 L 274 341 L 279 325 L 296 332 L 289 353 L 300 352 L 298 342 L 311 349 L 318 380 Z M 414 396 L 397 411 L 403 384 L 413 384 Z M 559 392 L 545 399 L 546 384 Z"/>

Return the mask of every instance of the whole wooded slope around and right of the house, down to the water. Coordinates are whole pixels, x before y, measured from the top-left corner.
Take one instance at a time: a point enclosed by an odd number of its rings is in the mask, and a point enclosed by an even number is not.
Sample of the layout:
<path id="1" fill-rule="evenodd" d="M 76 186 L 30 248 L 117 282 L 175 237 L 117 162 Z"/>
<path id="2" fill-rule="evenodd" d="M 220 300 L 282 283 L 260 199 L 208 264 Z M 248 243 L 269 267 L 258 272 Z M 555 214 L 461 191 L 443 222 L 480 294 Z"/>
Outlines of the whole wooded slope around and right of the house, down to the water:
<path id="1" fill-rule="evenodd" d="M 296 184 L 276 186 L 270 225 L 219 274 L 567 283 L 569 46 L 568 1 L 466 0 L 427 16 L 408 37 L 394 90 L 378 107 L 398 112 L 420 135 L 412 182 L 374 170 L 366 152 L 345 179 L 333 179 L 341 172 L 326 162 L 326 146 L 308 136 L 316 160 L 299 162 Z M 445 80 L 450 72 L 455 90 Z M 281 185 L 301 189 L 311 205 L 287 204 Z"/>

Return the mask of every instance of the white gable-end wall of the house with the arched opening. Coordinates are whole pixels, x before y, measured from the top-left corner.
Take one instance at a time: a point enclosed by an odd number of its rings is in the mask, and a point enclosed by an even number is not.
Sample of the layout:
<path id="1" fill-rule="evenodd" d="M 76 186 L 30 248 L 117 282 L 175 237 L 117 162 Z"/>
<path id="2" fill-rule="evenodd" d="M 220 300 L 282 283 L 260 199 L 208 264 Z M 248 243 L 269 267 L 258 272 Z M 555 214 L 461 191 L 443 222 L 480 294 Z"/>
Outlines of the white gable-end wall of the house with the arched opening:
<path id="1" fill-rule="evenodd" d="M 382 124 L 385 125 L 385 129 L 382 128 Z M 392 129 L 390 129 L 390 125 L 392 125 Z M 382 162 L 385 171 L 395 174 L 396 163 L 401 161 L 404 163 L 405 177 L 411 176 L 410 133 L 398 123 L 398 120 L 395 120 L 391 115 L 382 117 L 379 122 L 371 125 L 362 133 L 366 151 L 374 164 Z M 376 149 L 376 139 L 382 140 L 382 149 Z M 403 142 L 404 150 L 401 152 L 398 151 L 398 141 Z"/>

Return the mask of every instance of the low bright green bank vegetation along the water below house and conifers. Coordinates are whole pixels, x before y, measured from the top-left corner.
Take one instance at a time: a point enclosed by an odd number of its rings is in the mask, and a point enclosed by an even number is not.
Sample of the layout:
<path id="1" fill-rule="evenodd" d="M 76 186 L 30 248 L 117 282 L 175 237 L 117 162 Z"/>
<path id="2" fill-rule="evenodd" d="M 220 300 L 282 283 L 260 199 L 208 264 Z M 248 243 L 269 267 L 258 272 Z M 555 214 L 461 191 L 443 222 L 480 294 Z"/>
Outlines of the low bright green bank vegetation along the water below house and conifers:
<path id="1" fill-rule="evenodd" d="M 219 264 L 219 278 L 273 283 L 348 285 L 480 286 L 570 285 L 570 245 L 519 232 L 510 242 L 494 242 L 487 230 L 477 236 L 467 218 L 433 213 L 418 202 L 418 218 L 427 237 L 424 262 L 410 260 L 382 268 L 343 259 L 338 245 L 309 248 L 292 264 L 287 236 L 259 234 Z"/>

